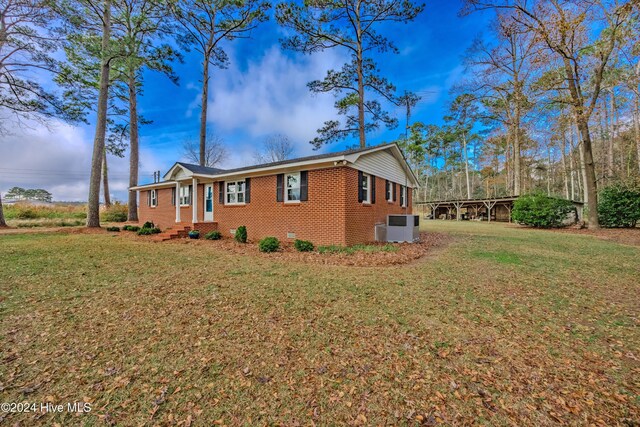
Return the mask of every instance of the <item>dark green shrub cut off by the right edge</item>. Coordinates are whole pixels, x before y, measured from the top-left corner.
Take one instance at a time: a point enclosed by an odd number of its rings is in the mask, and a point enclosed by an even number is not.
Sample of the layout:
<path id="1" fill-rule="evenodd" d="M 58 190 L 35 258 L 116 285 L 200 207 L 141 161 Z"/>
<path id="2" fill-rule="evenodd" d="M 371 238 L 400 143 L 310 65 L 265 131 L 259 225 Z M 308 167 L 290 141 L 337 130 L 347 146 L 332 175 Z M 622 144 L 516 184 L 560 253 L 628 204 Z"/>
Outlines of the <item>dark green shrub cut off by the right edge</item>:
<path id="1" fill-rule="evenodd" d="M 598 197 L 598 220 L 603 227 L 635 227 L 640 221 L 640 189 L 605 187 Z"/>

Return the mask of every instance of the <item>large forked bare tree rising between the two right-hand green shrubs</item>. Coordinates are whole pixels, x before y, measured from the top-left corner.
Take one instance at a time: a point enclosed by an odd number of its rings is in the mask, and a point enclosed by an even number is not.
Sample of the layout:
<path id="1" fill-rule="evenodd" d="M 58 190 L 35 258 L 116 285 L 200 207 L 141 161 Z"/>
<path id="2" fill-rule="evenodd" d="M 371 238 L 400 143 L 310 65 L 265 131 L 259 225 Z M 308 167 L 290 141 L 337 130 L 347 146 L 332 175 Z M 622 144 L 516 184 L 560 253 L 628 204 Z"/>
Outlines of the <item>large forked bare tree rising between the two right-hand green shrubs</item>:
<path id="1" fill-rule="evenodd" d="M 514 24 L 535 34 L 562 63 L 564 84 L 570 95 L 584 153 L 589 228 L 599 228 L 598 185 L 589 120 L 598 103 L 605 68 L 620 44 L 619 32 L 631 16 L 633 2 L 467 1 L 475 9 L 505 11 Z M 587 86 L 590 86 L 589 91 Z"/>

